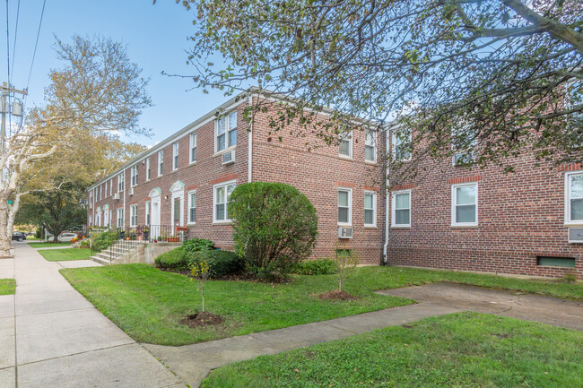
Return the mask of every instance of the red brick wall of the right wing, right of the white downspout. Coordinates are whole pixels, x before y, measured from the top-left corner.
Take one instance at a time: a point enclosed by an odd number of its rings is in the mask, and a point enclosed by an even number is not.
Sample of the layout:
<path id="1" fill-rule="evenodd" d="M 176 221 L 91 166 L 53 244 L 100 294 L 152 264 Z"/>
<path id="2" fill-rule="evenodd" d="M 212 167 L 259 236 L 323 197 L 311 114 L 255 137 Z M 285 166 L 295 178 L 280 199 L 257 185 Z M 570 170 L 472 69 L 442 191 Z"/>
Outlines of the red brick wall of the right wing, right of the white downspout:
<path id="1" fill-rule="evenodd" d="M 411 228 L 390 228 L 388 263 L 557 277 L 571 268 L 536 265 L 536 256 L 573 257 L 583 277 L 583 246 L 568 243 L 561 168 L 535 168 L 524 155 L 500 168 L 470 170 L 451 160 L 411 188 Z M 564 169 L 564 168 L 562 168 Z M 569 169 L 569 168 L 567 168 Z M 451 185 L 478 182 L 478 226 L 451 226 Z"/>

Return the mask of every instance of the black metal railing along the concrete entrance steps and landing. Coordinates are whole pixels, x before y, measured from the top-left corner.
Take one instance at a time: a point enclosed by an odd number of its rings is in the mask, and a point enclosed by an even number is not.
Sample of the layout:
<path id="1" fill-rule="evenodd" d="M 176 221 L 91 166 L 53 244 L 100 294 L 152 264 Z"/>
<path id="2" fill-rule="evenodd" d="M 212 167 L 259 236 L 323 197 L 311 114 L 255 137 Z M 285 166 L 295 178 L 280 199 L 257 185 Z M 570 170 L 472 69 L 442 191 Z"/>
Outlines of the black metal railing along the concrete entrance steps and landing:
<path id="1" fill-rule="evenodd" d="M 113 234 L 109 239 L 109 244 L 97 246 L 94 241 L 91 241 L 91 256 L 100 254 L 103 259 L 106 259 L 104 255 L 107 255 L 109 263 L 139 244 L 178 243 L 187 240 L 188 237 L 188 228 L 171 225 L 139 225 L 132 228 L 113 228 L 106 232 Z"/>

